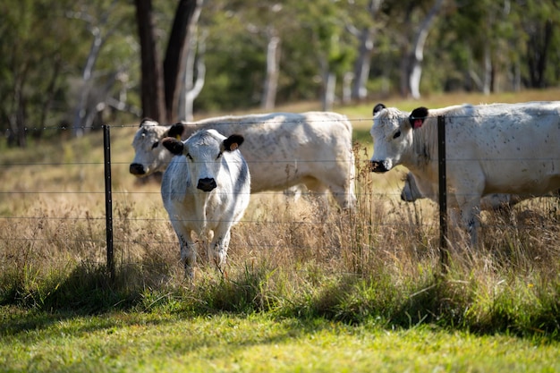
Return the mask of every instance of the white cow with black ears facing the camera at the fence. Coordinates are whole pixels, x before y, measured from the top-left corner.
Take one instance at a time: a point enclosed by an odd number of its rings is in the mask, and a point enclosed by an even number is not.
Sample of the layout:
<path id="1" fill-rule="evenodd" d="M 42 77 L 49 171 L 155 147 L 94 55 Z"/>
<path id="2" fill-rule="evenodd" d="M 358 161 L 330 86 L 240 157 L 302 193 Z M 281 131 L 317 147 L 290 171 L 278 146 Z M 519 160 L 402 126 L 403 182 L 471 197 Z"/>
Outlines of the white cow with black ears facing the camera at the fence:
<path id="1" fill-rule="evenodd" d="M 165 170 L 161 196 L 181 247 L 187 277 L 194 279 L 197 248 L 191 233 L 208 239 L 208 260 L 222 271 L 232 225 L 250 199 L 249 166 L 237 148 L 243 137 L 216 130 L 198 131 L 188 140 L 165 138 L 176 155 Z"/>

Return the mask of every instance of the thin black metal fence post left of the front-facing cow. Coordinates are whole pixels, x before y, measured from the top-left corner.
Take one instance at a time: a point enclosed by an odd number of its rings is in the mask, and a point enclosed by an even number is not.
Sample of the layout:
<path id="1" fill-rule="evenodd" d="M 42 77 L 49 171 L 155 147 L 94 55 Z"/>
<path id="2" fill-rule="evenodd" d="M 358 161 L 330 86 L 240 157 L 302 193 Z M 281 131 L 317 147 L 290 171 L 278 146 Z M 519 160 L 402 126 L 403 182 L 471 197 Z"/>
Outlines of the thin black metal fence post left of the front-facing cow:
<path id="1" fill-rule="evenodd" d="M 105 159 L 105 211 L 107 271 L 111 280 L 115 279 L 115 258 L 113 253 L 113 196 L 111 193 L 111 131 L 110 126 L 103 125 L 103 148 Z"/>

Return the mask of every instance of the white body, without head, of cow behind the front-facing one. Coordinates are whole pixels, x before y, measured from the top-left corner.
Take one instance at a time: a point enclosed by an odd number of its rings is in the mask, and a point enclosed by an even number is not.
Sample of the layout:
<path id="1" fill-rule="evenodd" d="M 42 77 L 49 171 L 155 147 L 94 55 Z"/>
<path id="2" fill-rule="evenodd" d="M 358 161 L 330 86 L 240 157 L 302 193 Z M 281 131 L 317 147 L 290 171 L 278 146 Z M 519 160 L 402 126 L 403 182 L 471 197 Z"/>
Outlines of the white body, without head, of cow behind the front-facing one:
<path id="1" fill-rule="evenodd" d="M 244 136 L 242 154 L 250 167 L 253 192 L 284 190 L 308 178 L 325 182 L 334 177 L 339 183 L 353 179 L 352 125 L 341 114 L 224 116 L 199 121 L 187 131 L 195 128 Z"/>

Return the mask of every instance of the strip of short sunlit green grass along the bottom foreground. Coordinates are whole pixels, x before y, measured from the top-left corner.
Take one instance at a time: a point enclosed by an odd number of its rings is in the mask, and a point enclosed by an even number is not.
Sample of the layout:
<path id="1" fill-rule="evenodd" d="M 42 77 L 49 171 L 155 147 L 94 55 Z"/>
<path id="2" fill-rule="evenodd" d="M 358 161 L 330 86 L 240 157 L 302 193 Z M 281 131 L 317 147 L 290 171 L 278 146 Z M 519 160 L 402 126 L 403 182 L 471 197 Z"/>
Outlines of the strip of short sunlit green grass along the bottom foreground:
<path id="1" fill-rule="evenodd" d="M 112 312 L 21 314 L 3 308 L 2 371 L 554 372 L 547 338 L 474 335 L 437 326 L 388 329 L 322 318 Z M 10 321 L 7 324 L 7 321 Z M 8 326 L 9 325 L 9 326 Z"/>

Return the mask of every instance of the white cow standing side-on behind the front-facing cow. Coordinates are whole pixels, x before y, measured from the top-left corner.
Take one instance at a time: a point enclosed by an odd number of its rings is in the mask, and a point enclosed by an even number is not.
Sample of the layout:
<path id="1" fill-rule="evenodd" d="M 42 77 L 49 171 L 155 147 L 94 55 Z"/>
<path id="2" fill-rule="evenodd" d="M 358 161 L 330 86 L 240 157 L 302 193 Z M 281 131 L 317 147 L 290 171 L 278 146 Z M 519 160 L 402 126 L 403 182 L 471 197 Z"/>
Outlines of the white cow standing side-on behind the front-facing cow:
<path id="1" fill-rule="evenodd" d="M 172 126 L 144 120 L 132 141 L 136 154 L 131 174 L 145 176 L 165 170 L 172 155 L 161 146 L 164 137 L 186 139 L 192 132 L 208 128 L 225 136 L 243 134 L 251 192 L 283 191 L 302 183 L 312 192 L 331 191 L 342 208 L 354 207 L 352 124 L 336 113 L 223 116 Z"/>

